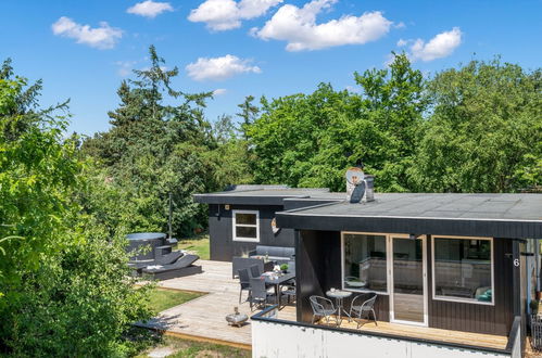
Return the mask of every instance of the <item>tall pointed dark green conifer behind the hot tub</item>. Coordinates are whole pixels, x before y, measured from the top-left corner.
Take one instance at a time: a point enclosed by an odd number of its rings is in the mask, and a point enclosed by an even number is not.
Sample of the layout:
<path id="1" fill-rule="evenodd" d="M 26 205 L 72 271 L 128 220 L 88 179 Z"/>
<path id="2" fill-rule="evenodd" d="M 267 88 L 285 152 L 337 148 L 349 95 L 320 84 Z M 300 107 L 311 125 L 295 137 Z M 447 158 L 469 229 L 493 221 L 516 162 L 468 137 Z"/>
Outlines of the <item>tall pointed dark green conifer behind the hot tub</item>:
<path id="1" fill-rule="evenodd" d="M 109 113 L 112 128 L 85 141 L 84 151 L 103 163 L 105 184 L 122 197 L 123 207 L 110 203 L 101 209 L 119 209 L 115 222 L 129 231 L 164 231 L 172 193 L 174 231 L 186 235 L 205 222 L 203 207 L 191 195 L 216 189 L 212 164 L 203 155 L 216 146 L 203 113 L 212 93 L 174 90 L 177 67 L 164 69 L 165 61 L 152 46 L 149 53 L 151 67 L 135 71 L 135 79 L 121 84 L 121 104 Z M 101 203 L 87 200 L 94 207 Z"/>

